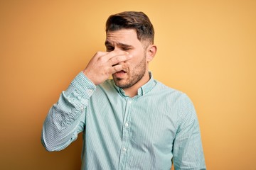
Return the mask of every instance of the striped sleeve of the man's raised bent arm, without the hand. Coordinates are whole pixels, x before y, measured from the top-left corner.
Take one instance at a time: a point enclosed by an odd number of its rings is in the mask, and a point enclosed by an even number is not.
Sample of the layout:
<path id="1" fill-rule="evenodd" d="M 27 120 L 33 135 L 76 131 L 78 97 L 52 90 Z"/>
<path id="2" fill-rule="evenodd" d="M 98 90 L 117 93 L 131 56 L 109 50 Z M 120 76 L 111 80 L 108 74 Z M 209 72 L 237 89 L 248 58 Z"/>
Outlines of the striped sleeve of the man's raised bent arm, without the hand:
<path id="1" fill-rule="evenodd" d="M 95 89 L 95 84 L 80 72 L 68 89 L 60 94 L 43 123 L 41 142 L 46 150 L 65 149 L 77 139 L 85 127 L 87 103 Z"/>

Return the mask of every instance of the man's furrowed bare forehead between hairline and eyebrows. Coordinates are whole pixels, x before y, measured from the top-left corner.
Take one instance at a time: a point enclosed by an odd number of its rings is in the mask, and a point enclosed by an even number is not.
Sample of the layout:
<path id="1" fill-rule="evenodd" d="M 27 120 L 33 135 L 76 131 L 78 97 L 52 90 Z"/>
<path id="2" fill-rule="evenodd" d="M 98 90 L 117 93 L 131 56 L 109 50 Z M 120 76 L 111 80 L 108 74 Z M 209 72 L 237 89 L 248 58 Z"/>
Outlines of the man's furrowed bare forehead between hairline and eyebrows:
<path id="1" fill-rule="evenodd" d="M 121 29 L 114 31 L 107 31 L 106 42 L 115 43 L 134 43 L 139 42 L 137 32 L 134 29 Z"/>

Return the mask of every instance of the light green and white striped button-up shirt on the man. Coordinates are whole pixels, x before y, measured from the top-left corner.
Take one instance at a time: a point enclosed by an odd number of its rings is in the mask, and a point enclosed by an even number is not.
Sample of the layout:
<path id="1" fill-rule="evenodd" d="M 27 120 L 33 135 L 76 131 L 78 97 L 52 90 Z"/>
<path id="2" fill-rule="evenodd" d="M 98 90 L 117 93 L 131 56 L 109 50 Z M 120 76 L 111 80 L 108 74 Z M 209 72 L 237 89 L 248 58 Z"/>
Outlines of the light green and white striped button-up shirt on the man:
<path id="1" fill-rule="evenodd" d="M 82 170 L 206 169 L 193 103 L 152 76 L 130 98 L 112 79 L 95 86 L 80 72 L 50 108 L 42 144 L 59 151 L 79 132 Z"/>

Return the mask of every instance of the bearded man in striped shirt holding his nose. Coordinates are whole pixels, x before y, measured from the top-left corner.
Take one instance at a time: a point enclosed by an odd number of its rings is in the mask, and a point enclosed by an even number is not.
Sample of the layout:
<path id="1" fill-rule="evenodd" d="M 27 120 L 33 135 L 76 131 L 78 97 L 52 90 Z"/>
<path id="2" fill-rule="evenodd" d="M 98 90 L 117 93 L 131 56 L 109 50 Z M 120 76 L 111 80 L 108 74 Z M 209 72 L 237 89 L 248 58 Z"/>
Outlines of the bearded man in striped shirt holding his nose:
<path id="1" fill-rule="evenodd" d="M 149 18 L 110 16 L 105 46 L 50 108 L 43 146 L 59 151 L 83 132 L 81 169 L 167 170 L 172 162 L 175 169 L 206 169 L 193 104 L 149 72 L 156 54 Z"/>

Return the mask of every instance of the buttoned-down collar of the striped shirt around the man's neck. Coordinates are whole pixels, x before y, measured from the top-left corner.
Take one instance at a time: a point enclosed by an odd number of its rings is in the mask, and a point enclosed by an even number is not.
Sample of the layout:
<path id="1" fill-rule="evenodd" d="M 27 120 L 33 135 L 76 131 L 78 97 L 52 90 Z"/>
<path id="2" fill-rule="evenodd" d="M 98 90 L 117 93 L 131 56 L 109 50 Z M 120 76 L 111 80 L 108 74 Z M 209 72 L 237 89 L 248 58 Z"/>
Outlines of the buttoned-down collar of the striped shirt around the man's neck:
<path id="1" fill-rule="evenodd" d="M 143 96 L 144 94 L 148 93 L 149 91 L 151 91 L 151 89 L 153 89 L 153 87 L 155 86 L 156 82 L 154 81 L 154 78 L 153 78 L 153 75 L 151 74 L 151 72 L 149 72 L 149 81 L 146 82 L 146 84 L 144 84 L 143 86 L 141 86 L 139 89 L 138 89 L 138 94 L 137 96 L 135 97 L 140 97 L 140 96 Z M 126 96 L 128 97 L 124 90 L 122 88 L 119 88 L 118 86 L 116 86 L 114 84 L 114 81 L 112 80 L 112 84 L 114 86 L 115 89 L 117 89 L 117 92 L 119 94 L 121 94 L 122 96 Z"/>

